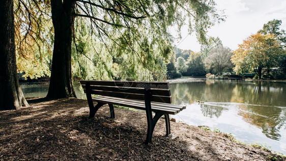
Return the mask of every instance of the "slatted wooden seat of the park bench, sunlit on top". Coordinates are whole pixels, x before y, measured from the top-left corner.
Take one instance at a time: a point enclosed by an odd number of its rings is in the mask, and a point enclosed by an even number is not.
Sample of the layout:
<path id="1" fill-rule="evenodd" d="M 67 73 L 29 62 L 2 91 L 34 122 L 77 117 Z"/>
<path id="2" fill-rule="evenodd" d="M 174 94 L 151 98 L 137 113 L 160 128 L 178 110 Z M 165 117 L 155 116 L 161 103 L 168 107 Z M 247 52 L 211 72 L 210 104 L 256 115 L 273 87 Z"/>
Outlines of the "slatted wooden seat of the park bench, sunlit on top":
<path id="1" fill-rule="evenodd" d="M 110 98 L 103 98 L 103 97 L 93 98 L 93 101 L 97 101 L 97 102 L 117 104 L 117 105 L 127 106 L 129 108 L 145 110 L 144 101 L 141 101 L 142 103 L 138 103 L 138 102 L 130 102 L 129 100 L 130 99 L 117 100 L 117 99 L 110 99 Z M 164 107 L 162 106 L 156 106 L 156 107 L 152 106 L 152 111 L 159 112 L 159 113 L 165 113 L 165 114 L 171 114 L 171 115 L 176 115 L 178 112 L 180 112 L 179 109 L 171 109 L 171 108 L 164 109 Z"/>

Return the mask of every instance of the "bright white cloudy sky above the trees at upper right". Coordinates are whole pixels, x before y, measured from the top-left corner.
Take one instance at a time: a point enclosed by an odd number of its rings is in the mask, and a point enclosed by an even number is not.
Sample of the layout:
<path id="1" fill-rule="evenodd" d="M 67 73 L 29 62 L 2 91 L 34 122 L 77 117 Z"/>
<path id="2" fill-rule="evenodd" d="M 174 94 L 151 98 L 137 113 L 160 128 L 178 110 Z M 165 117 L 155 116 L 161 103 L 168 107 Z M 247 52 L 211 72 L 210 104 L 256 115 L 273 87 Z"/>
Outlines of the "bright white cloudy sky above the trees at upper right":
<path id="1" fill-rule="evenodd" d="M 282 20 L 281 29 L 286 30 L 286 0 L 215 0 L 218 10 L 224 10 L 226 19 L 216 24 L 207 33 L 219 37 L 223 46 L 238 48 L 244 39 L 256 34 L 263 24 L 273 19 Z M 188 35 L 187 27 L 182 30 L 182 39 L 175 45 L 181 49 L 199 51 L 201 45 L 195 34 Z"/>

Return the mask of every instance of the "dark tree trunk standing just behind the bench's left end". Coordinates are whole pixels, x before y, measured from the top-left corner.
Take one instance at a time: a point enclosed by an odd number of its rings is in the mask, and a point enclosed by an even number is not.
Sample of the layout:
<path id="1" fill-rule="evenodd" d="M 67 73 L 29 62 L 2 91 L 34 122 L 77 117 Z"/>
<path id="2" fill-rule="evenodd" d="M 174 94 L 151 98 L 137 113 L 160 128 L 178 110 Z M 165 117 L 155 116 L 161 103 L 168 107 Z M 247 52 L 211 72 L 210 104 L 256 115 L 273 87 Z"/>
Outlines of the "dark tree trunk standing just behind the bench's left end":
<path id="1" fill-rule="evenodd" d="M 76 97 L 72 84 L 71 44 L 75 1 L 52 0 L 54 46 L 47 98 Z"/>

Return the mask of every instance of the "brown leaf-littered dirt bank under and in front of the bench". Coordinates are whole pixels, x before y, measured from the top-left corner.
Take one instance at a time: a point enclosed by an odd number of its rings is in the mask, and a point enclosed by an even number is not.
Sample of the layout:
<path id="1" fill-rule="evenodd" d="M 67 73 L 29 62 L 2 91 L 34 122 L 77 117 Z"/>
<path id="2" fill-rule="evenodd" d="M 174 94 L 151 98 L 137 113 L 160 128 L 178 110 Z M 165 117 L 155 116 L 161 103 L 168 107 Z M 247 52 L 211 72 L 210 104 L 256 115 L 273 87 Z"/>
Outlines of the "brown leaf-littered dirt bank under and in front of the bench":
<path id="1" fill-rule="evenodd" d="M 179 138 L 164 137 L 159 119 L 145 145 L 146 114 L 103 106 L 88 119 L 87 100 L 28 100 L 29 107 L 0 112 L 0 160 L 285 160 L 239 144 L 223 133 L 171 122 Z"/>

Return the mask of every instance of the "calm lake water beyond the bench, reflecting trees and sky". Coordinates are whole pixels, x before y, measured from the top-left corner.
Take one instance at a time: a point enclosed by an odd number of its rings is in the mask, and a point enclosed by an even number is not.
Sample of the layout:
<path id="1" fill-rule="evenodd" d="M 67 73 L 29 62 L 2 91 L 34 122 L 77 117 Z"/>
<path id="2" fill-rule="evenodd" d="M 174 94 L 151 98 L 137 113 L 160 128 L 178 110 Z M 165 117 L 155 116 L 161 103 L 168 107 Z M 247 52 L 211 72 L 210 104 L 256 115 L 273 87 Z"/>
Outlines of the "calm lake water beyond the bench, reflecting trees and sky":
<path id="1" fill-rule="evenodd" d="M 267 144 L 286 154 L 286 83 L 188 80 L 170 82 L 173 103 L 187 105 L 171 115 L 177 122 L 209 126 L 232 133 L 239 141 Z M 21 88 L 25 97 L 45 97 L 48 83 L 21 83 Z M 79 87 L 75 91 L 79 98 L 85 97 Z"/>

